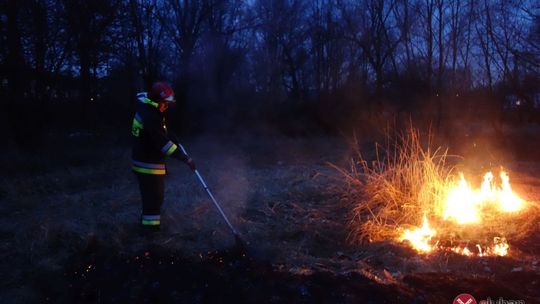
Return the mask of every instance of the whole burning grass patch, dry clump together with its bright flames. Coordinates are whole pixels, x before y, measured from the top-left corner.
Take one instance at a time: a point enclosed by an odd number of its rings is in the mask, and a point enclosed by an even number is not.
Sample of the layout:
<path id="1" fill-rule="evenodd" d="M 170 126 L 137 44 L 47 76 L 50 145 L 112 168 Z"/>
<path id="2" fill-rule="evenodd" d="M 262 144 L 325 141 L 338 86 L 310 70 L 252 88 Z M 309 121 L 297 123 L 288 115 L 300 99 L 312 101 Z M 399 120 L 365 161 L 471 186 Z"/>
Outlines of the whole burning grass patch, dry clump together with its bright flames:
<path id="1" fill-rule="evenodd" d="M 451 250 L 463 255 L 506 255 L 506 240 L 525 237 L 538 221 L 538 208 L 515 194 L 502 169 L 475 188 L 448 150 L 433 148 L 409 127 L 375 145 L 373 160 L 362 153 L 350 169 L 337 168 L 356 203 L 350 223 L 353 242 L 407 241 L 419 252 Z M 499 186 L 500 185 L 500 186 Z"/>

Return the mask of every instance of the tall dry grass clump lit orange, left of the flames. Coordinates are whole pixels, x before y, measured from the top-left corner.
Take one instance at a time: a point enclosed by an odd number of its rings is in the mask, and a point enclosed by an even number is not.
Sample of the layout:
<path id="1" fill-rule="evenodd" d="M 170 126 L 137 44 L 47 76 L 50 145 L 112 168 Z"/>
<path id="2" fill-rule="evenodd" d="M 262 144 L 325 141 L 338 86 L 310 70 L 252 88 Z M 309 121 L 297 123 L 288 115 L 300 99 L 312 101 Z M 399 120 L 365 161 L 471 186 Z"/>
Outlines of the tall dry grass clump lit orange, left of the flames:
<path id="1" fill-rule="evenodd" d="M 418 225 L 424 213 L 435 211 L 452 168 L 447 150 L 431 145 L 431 134 L 423 143 L 412 126 L 393 136 L 387 131 L 385 145 L 375 145 L 373 160 L 358 152 L 350 170 L 338 168 L 359 201 L 350 224 L 352 240 L 394 238 L 398 227 Z"/>

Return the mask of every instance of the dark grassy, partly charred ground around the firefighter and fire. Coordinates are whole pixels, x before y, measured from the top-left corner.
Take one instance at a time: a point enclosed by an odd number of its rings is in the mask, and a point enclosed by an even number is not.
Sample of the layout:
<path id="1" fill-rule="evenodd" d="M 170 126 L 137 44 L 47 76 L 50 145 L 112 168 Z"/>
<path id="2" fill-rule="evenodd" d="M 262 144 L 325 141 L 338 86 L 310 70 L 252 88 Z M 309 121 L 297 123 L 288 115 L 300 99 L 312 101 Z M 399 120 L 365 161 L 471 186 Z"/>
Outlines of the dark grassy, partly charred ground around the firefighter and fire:
<path id="1" fill-rule="evenodd" d="M 247 242 L 247 256 L 233 250 L 234 238 L 183 164 L 169 162 L 163 228 L 148 235 L 137 229 L 139 194 L 122 140 L 76 132 L 51 134 L 39 155 L 7 149 L 1 302 L 451 303 L 464 292 L 477 300 L 540 302 L 540 229 L 510 240 L 508 257 L 354 245 L 347 230 L 351 202 L 327 165 L 347 166 L 346 142 L 262 138 L 187 142 Z M 516 191 L 536 203 L 536 147 L 525 135 L 508 138 L 529 144 L 516 150 L 506 142 L 477 158 L 504 162 Z M 462 152 L 478 163 L 472 156 L 481 148 Z"/>

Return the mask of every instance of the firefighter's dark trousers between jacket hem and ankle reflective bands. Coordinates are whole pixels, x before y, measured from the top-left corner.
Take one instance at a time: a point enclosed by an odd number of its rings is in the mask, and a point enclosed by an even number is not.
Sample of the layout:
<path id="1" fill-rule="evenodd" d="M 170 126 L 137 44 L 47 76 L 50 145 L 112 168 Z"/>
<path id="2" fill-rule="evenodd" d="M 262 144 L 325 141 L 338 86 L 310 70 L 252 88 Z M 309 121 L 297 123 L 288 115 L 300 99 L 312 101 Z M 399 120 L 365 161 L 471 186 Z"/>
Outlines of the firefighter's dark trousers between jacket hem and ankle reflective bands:
<path id="1" fill-rule="evenodd" d="M 165 193 L 165 175 L 135 173 L 141 191 L 143 215 L 159 215 Z"/>

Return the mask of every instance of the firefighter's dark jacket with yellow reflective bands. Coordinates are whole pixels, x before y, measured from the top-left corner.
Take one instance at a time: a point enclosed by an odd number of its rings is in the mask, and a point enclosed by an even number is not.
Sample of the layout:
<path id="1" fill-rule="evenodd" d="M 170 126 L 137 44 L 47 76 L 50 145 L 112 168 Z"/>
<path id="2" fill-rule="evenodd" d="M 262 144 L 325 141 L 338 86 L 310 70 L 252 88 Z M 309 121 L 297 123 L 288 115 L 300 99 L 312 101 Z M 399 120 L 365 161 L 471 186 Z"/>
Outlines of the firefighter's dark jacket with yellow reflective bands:
<path id="1" fill-rule="evenodd" d="M 183 161 L 188 157 L 169 139 L 165 117 L 158 110 L 158 103 L 150 100 L 146 93 L 137 94 L 137 99 L 131 127 L 132 169 L 137 173 L 164 175 L 167 156 Z"/>

